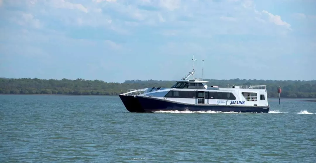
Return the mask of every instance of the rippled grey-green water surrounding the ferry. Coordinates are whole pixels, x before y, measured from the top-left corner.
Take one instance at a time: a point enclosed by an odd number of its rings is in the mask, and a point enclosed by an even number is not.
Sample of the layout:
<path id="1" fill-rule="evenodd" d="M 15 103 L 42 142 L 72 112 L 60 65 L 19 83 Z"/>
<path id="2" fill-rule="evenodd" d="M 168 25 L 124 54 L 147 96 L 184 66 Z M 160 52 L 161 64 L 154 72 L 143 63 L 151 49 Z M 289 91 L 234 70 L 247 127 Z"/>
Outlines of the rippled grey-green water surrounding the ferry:
<path id="1" fill-rule="evenodd" d="M 1 162 L 315 162 L 316 102 L 130 113 L 118 96 L 0 95 Z M 186 114 L 190 113 L 190 114 Z"/>

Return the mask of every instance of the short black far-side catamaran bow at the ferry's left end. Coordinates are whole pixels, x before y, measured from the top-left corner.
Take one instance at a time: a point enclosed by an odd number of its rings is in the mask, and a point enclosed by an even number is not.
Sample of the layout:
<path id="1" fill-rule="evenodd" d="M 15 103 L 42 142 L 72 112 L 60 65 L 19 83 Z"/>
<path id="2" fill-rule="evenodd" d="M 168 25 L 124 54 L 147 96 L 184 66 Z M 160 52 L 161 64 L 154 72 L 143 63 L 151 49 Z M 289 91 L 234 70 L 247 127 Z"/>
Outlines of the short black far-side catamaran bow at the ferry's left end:
<path id="1" fill-rule="evenodd" d="M 121 98 L 125 108 L 129 112 L 136 112 L 136 113 L 143 113 L 145 110 L 142 109 L 142 106 L 140 105 L 138 99 L 134 96 L 124 96 L 119 95 Z"/>

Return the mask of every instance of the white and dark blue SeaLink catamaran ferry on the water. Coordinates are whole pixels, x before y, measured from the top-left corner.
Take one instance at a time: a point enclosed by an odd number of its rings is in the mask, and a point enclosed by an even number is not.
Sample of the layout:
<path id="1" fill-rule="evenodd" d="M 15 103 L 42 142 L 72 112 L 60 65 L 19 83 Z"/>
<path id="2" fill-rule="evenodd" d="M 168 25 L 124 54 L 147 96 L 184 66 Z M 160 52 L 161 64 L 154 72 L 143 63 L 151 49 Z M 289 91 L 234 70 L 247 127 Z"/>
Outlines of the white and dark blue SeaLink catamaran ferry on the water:
<path id="1" fill-rule="evenodd" d="M 130 112 L 155 111 L 219 111 L 268 113 L 269 104 L 265 85 L 208 86 L 208 81 L 194 78 L 193 70 L 171 88 L 144 88 L 120 94 Z M 192 79 L 188 79 L 193 76 Z"/>

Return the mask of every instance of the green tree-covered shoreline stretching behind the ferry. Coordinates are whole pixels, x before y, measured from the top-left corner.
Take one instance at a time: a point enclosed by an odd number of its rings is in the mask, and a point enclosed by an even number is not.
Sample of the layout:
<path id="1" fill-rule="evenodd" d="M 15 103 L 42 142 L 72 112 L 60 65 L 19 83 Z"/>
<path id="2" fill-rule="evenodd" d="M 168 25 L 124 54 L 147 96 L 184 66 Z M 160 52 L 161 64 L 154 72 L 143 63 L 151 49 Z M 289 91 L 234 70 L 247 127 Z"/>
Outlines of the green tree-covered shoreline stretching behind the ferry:
<path id="1" fill-rule="evenodd" d="M 316 80 L 246 80 L 230 79 L 210 81 L 208 85 L 225 87 L 227 84 L 267 85 L 268 97 L 278 97 L 277 87 L 281 86 L 281 97 L 316 98 Z M 124 83 L 107 83 L 101 80 L 84 79 L 38 79 L 0 78 L 2 94 L 64 94 L 64 95 L 119 95 L 128 89 L 171 87 L 175 82 L 162 80 L 126 80 Z"/>

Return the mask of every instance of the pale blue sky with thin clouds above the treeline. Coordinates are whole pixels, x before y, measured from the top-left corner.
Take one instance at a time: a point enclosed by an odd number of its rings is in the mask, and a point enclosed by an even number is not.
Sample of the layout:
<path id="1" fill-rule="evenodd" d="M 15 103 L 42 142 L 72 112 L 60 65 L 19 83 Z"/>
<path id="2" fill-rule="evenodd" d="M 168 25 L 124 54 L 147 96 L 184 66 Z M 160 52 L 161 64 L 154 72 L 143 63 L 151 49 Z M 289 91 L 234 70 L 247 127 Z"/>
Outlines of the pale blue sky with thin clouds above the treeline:
<path id="1" fill-rule="evenodd" d="M 197 78 L 203 65 L 203 78 L 313 80 L 315 8 L 315 0 L 0 0 L 0 77 L 177 80 L 194 55 Z"/>

